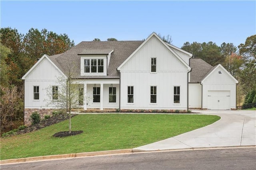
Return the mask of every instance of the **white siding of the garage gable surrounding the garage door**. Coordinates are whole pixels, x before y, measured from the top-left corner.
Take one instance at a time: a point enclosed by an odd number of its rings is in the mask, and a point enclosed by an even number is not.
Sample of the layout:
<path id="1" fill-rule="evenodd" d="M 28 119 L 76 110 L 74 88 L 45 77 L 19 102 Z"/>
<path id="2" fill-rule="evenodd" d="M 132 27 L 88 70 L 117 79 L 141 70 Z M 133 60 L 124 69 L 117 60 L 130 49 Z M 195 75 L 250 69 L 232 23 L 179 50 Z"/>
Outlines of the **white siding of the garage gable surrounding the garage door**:
<path id="1" fill-rule="evenodd" d="M 218 72 L 221 71 L 221 74 Z M 236 82 L 226 73 L 224 69 L 218 67 L 203 82 L 203 102 L 202 108 L 207 109 L 208 91 L 230 91 L 230 108 L 236 109 Z"/>

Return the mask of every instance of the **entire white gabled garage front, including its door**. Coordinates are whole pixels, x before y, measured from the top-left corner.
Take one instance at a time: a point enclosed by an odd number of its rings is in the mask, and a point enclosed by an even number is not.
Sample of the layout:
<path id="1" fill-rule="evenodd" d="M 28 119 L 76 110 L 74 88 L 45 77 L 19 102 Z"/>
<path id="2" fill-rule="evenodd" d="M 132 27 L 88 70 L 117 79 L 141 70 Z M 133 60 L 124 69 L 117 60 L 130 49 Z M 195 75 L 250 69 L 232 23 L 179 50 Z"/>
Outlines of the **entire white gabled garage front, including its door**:
<path id="1" fill-rule="evenodd" d="M 203 81 L 202 108 L 212 110 L 236 109 L 236 83 L 238 81 L 218 65 Z"/>

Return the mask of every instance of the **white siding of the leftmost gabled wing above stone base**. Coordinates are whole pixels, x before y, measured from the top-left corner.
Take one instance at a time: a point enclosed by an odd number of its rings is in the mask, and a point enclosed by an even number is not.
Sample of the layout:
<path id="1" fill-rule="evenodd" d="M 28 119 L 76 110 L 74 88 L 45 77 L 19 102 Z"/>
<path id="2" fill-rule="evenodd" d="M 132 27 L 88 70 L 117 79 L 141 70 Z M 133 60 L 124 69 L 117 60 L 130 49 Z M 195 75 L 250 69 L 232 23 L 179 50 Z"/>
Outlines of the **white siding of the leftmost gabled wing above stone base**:
<path id="1" fill-rule="evenodd" d="M 39 62 L 39 61 L 38 61 Z M 47 88 L 58 85 L 58 77 L 63 75 L 44 57 L 28 75 L 24 76 L 24 108 L 47 109 L 50 97 Z M 39 86 L 39 100 L 34 100 L 34 86 Z"/>

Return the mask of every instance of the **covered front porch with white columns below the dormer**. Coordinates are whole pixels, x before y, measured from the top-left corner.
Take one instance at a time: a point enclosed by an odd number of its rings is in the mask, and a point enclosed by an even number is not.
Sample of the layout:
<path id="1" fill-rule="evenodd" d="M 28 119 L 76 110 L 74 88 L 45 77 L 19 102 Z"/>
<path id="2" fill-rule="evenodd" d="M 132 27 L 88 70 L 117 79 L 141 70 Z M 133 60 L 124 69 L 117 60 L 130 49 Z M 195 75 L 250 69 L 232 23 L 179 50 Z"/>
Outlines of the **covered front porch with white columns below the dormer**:
<path id="1" fill-rule="evenodd" d="M 79 84 L 79 107 L 83 110 L 119 108 L 119 79 L 84 79 Z"/>

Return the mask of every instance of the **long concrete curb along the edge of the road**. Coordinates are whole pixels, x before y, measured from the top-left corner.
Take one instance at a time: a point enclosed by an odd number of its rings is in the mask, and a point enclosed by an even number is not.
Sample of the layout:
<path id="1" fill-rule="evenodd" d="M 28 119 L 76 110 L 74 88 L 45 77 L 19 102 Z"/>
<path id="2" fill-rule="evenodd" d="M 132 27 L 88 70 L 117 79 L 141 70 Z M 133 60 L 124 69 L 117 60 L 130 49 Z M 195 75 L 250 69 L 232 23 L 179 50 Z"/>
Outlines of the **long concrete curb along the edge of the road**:
<path id="1" fill-rule="evenodd" d="M 224 146 L 224 147 L 210 147 L 210 148 L 184 148 L 184 149 L 166 149 L 166 150 L 140 150 L 140 149 L 118 149 L 118 150 L 105 150 L 97 152 L 83 152 L 74 154 L 59 154 L 49 156 L 36 156 L 29 158 L 18 158 L 18 159 L 6 159 L 0 160 L 0 164 L 14 164 L 22 162 L 32 161 L 45 161 L 54 159 L 65 159 L 65 158 L 82 158 L 87 156 L 104 156 L 113 154 L 126 154 L 126 153 L 147 153 L 147 152 L 178 152 L 178 151 L 189 151 L 189 150 L 214 150 L 214 149 L 235 149 L 235 148 L 256 148 L 256 145 L 250 146 Z"/>

